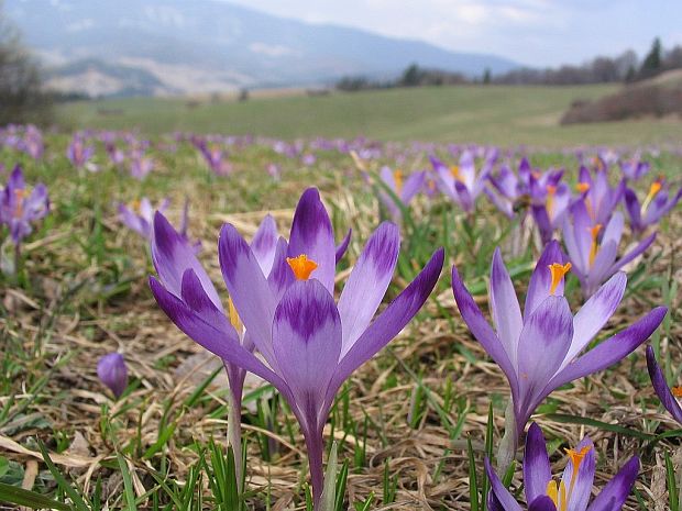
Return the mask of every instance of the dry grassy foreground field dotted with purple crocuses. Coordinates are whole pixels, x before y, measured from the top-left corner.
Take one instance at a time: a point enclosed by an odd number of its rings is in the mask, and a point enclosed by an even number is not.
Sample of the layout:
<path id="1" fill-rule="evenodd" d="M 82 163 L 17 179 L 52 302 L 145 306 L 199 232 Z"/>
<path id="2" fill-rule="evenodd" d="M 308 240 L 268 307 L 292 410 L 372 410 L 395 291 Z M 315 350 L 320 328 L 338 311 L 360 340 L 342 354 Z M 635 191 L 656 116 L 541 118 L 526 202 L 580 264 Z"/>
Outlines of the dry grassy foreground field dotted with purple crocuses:
<path id="1" fill-rule="evenodd" d="M 0 502 L 676 511 L 681 168 L 6 126 Z"/>

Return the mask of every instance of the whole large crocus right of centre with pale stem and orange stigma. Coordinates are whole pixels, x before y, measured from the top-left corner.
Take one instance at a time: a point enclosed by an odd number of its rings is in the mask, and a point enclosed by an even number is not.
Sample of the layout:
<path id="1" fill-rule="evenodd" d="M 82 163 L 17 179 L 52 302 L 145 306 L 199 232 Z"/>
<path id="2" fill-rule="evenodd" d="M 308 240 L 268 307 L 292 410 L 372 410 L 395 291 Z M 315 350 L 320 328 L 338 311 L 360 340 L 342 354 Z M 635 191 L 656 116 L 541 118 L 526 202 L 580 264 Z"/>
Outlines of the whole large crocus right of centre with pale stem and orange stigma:
<path id="1" fill-rule="evenodd" d="M 460 313 L 471 333 L 504 371 L 512 390 L 514 420 L 501 445 L 498 462 L 508 466 L 518 438 L 535 409 L 554 389 L 574 379 L 605 369 L 644 343 L 663 320 L 667 309 L 658 307 L 629 327 L 593 349 L 590 342 L 618 308 L 627 277 L 614 275 L 575 315 L 563 297 L 563 278 L 571 269 L 559 243 L 547 245 L 530 277 L 526 307 L 521 313 L 514 285 L 499 249 L 491 268 L 490 304 L 493 330 L 452 267 L 452 290 Z M 504 468 L 503 468 L 504 469 Z"/>

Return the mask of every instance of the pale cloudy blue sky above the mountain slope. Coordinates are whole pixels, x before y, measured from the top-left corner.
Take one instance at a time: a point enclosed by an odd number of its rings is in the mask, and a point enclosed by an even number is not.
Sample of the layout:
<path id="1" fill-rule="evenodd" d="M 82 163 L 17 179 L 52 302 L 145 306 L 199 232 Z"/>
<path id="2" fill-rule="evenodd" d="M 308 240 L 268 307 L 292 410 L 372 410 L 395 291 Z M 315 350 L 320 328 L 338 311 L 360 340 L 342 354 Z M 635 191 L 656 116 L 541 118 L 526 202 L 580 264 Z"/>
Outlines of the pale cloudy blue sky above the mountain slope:
<path id="1" fill-rule="evenodd" d="M 654 36 L 682 44 L 682 0 L 229 0 L 271 14 L 350 25 L 534 66 L 579 64 Z"/>

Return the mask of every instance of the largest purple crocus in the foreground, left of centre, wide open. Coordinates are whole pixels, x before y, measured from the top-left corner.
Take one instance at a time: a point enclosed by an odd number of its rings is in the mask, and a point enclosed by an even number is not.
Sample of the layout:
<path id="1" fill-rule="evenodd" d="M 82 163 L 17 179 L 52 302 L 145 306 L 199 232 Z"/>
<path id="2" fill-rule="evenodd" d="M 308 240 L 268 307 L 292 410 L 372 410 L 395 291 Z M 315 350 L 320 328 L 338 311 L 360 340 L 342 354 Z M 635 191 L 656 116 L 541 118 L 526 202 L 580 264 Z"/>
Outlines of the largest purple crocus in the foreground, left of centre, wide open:
<path id="1" fill-rule="evenodd" d="M 345 379 L 395 337 L 421 308 L 442 268 L 439 249 L 425 269 L 372 321 L 392 280 L 399 252 L 396 225 L 383 223 L 369 240 L 334 302 L 337 247 L 317 189 L 300 198 L 289 242 L 279 238 L 270 275 L 237 229 L 223 225 L 222 275 L 239 318 L 264 362 L 239 343 L 194 268 L 168 288 L 150 278 L 168 318 L 223 360 L 275 386 L 289 403 L 308 447 L 316 506 L 322 489 L 322 429 Z M 175 265 L 173 260 L 167 263 Z M 177 274 L 174 274 L 177 275 Z M 178 293 L 179 297 L 178 298 Z"/>

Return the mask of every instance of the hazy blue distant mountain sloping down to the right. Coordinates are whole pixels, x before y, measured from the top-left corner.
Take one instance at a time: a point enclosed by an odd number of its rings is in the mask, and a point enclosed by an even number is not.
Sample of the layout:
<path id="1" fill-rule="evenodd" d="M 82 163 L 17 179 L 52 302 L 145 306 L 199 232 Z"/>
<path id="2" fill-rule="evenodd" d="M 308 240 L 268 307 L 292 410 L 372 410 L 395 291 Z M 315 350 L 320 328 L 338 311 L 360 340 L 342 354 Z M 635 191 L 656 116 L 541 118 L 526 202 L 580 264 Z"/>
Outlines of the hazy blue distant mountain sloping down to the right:
<path id="1" fill-rule="evenodd" d="M 6 0 L 61 90 L 95 95 L 310 86 L 393 78 L 409 64 L 468 76 L 518 67 L 356 29 L 308 24 L 218 0 Z"/>

